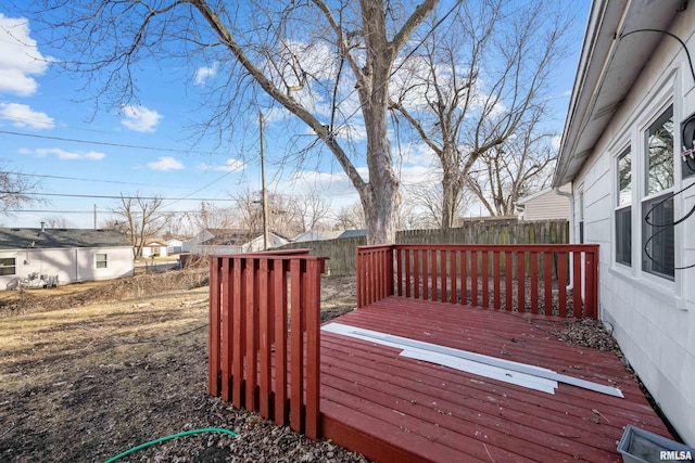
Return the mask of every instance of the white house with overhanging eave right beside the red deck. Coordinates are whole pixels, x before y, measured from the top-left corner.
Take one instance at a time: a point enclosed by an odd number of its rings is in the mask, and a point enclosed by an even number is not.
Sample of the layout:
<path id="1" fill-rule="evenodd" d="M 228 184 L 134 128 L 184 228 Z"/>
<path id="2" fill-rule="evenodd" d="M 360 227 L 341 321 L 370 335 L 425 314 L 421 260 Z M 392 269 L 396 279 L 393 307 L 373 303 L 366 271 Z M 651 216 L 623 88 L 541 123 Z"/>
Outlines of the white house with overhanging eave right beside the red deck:
<path id="1" fill-rule="evenodd" d="M 572 182 L 572 241 L 601 245 L 602 320 L 695 446 L 695 75 L 659 29 L 695 50 L 695 5 L 593 2 L 553 187 Z"/>

